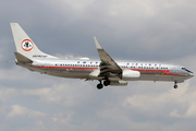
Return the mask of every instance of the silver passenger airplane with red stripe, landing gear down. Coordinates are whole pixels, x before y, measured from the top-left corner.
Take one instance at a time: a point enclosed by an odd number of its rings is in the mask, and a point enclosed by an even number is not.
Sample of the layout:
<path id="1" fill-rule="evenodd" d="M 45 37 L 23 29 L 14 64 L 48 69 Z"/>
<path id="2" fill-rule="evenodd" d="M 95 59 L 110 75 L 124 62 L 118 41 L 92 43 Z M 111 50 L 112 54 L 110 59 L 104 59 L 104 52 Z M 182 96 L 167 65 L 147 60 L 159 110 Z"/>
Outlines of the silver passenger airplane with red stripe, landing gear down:
<path id="1" fill-rule="evenodd" d="M 158 62 L 115 61 L 94 37 L 99 60 L 69 60 L 47 55 L 38 49 L 35 43 L 23 31 L 19 23 L 11 23 L 16 47 L 15 63 L 30 71 L 68 79 L 97 80 L 97 88 L 103 86 L 126 86 L 128 81 L 167 81 L 182 83 L 194 76 L 194 73 L 182 66 Z"/>

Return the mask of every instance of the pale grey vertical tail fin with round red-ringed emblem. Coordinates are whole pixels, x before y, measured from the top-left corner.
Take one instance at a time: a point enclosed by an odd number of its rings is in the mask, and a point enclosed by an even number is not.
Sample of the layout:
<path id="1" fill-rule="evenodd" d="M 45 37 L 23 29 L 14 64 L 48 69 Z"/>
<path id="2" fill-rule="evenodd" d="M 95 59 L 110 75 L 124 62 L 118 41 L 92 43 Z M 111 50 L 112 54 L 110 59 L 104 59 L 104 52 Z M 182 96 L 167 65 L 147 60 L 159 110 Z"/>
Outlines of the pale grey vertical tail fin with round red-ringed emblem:
<path id="1" fill-rule="evenodd" d="M 57 57 L 40 51 L 17 23 L 11 23 L 10 25 L 19 53 L 28 59 L 57 59 Z"/>

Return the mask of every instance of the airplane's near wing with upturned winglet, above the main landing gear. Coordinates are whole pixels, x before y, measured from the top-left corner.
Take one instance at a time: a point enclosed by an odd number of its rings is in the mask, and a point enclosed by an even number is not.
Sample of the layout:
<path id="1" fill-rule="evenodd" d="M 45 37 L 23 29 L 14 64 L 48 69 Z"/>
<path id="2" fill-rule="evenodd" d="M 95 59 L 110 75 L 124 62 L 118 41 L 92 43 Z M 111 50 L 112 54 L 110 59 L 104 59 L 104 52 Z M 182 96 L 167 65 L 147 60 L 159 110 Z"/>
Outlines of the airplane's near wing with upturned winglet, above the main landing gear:
<path id="1" fill-rule="evenodd" d="M 122 73 L 122 69 L 118 66 L 118 63 L 105 51 L 105 49 L 100 46 L 97 38 L 94 36 L 94 40 L 99 53 L 99 58 L 101 60 L 100 63 L 100 76 L 108 76 L 112 74 Z"/>

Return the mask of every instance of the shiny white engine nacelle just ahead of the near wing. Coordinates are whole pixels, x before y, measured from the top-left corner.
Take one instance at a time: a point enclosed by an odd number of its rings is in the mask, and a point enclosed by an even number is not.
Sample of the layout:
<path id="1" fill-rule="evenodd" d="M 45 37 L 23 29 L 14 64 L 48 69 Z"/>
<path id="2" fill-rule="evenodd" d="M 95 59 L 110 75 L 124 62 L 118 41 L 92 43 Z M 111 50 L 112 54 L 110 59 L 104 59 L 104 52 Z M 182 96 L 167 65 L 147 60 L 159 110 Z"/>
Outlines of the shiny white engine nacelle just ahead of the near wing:
<path id="1" fill-rule="evenodd" d="M 140 72 L 132 70 L 123 70 L 122 80 L 132 81 L 140 78 Z"/>

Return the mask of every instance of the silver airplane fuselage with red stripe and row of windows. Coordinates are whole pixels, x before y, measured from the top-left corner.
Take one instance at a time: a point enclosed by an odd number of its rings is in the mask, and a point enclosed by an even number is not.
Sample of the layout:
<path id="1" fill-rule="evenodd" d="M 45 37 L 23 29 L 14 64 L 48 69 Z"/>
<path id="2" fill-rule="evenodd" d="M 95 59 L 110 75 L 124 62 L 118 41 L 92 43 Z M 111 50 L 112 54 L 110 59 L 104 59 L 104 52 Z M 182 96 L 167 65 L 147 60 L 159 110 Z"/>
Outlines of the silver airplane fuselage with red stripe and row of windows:
<path id="1" fill-rule="evenodd" d="M 133 78 L 128 81 L 173 81 L 184 82 L 193 76 L 193 72 L 181 66 L 150 63 L 150 62 L 117 62 L 122 70 L 138 71 L 139 78 Z M 20 63 L 30 71 L 37 71 L 48 75 L 70 79 L 91 80 L 89 75 L 93 71 L 99 70 L 100 61 L 90 60 L 34 60 L 33 63 Z M 94 80 L 103 79 L 101 76 Z M 120 81 L 119 76 L 111 76 L 109 80 Z"/>

